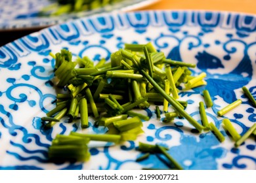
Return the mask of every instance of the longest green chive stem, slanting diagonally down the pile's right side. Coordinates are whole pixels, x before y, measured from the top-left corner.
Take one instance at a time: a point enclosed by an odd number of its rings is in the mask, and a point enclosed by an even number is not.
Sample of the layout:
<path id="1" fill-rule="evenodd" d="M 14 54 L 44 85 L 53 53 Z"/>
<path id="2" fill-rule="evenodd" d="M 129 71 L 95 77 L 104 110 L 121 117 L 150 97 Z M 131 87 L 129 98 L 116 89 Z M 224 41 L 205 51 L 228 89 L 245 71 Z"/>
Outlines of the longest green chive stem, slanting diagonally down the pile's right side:
<path id="1" fill-rule="evenodd" d="M 171 97 L 170 95 L 167 95 L 167 93 L 165 93 L 165 91 L 154 81 L 153 78 L 150 77 L 150 75 L 148 75 L 148 73 L 146 73 L 146 71 L 141 70 L 142 74 L 148 79 L 148 81 L 152 84 L 152 86 L 154 86 L 154 88 L 165 98 L 167 99 L 167 101 L 179 112 L 179 114 L 181 114 L 184 118 L 186 118 L 186 120 L 188 120 L 188 122 L 190 122 L 190 124 L 192 124 L 194 127 L 196 127 L 196 129 L 198 129 L 198 131 L 202 131 L 202 129 L 204 129 L 203 125 L 199 124 L 196 120 L 194 120 L 194 118 L 192 118 L 192 116 L 190 116 L 183 108 L 181 108 L 178 104 L 178 102 L 173 99 L 173 97 Z"/>

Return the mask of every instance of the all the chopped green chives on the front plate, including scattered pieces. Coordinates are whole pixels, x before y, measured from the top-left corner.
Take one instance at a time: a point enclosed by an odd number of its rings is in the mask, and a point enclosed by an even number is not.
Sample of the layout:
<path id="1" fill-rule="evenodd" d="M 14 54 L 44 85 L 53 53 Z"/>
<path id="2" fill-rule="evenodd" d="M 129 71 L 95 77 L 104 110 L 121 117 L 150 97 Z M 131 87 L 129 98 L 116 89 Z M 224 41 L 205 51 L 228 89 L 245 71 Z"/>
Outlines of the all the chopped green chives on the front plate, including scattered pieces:
<path id="1" fill-rule="evenodd" d="M 115 144 L 135 141 L 144 133 L 143 124 L 150 120 L 149 116 L 141 114 L 139 110 L 147 109 L 155 103 L 158 103 L 156 118 L 161 122 L 184 118 L 200 133 L 210 129 L 220 142 L 224 141 L 221 131 L 213 123 L 208 123 L 205 112 L 207 108 L 203 102 L 199 103 L 200 124 L 199 119 L 186 112 L 188 102 L 177 100 L 180 91 L 206 85 L 206 73 L 192 76 L 190 69 L 196 65 L 165 58 L 163 52 L 158 52 L 151 42 L 125 44 L 123 49 L 111 54 L 110 62 L 102 58 L 96 64 L 87 56 L 73 60 L 72 53 L 64 49 L 50 55 L 55 59 L 56 86 L 64 90 L 56 93 L 56 107 L 41 118 L 43 127 L 49 129 L 66 117 L 68 122 L 79 120 L 81 129 L 88 128 L 90 124 L 107 129 L 105 134 L 97 135 L 77 132 L 67 136 L 57 135 L 49 148 L 50 159 L 86 161 L 89 158 L 89 141 Z M 245 95 L 251 100 L 246 89 L 243 87 Z M 212 107 L 209 91 L 203 90 L 203 97 L 206 107 Z M 240 103 L 242 101 L 238 99 L 219 110 L 217 115 L 223 116 Z M 163 119 L 159 105 L 163 106 Z M 256 133 L 253 125 L 249 132 L 240 137 L 230 121 L 224 119 L 223 124 L 236 141 L 235 146 L 240 146 L 249 135 Z M 160 153 L 175 165 L 175 169 L 182 169 L 163 146 L 139 142 L 139 150 L 145 154 L 136 161 L 142 161 L 152 153 Z"/>

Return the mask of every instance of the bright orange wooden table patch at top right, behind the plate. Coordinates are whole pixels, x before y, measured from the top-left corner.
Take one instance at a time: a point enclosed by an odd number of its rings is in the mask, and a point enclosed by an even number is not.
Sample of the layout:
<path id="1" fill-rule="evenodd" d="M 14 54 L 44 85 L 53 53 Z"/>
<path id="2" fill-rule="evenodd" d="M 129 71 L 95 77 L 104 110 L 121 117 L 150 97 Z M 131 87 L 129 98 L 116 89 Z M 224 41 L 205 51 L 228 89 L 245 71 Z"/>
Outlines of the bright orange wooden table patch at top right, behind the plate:
<path id="1" fill-rule="evenodd" d="M 223 10 L 256 14 L 256 0 L 160 0 L 140 10 Z"/>

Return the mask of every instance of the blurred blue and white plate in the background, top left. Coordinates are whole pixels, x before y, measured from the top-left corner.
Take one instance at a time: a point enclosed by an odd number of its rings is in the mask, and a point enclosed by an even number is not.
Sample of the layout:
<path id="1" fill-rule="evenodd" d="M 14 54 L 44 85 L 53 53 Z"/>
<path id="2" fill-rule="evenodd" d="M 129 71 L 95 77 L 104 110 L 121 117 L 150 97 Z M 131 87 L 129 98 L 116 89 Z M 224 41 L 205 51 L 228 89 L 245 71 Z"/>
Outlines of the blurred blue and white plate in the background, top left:
<path id="1" fill-rule="evenodd" d="M 106 5 L 102 8 L 86 10 L 71 14 L 62 14 L 58 16 L 40 16 L 41 10 L 54 4 L 52 0 L 2 0 L 0 1 L 0 31 L 9 31 L 17 29 L 40 29 L 50 25 L 60 24 L 67 20 L 100 14 L 102 12 L 111 12 L 114 10 L 135 10 L 159 0 L 121 0 L 112 5 Z"/>

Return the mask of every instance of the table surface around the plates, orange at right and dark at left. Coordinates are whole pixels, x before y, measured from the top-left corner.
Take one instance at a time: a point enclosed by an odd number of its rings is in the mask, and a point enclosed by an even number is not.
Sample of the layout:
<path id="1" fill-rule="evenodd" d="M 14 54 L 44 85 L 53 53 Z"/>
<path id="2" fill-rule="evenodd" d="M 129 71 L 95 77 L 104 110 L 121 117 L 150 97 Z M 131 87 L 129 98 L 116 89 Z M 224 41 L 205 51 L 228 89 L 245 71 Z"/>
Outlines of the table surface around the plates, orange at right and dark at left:
<path id="1" fill-rule="evenodd" d="M 159 0 L 139 10 L 222 10 L 256 14 L 256 0 Z M 0 46 L 39 29 L 0 32 Z"/>

